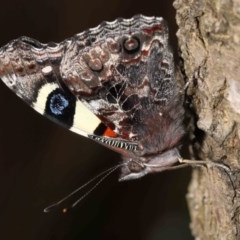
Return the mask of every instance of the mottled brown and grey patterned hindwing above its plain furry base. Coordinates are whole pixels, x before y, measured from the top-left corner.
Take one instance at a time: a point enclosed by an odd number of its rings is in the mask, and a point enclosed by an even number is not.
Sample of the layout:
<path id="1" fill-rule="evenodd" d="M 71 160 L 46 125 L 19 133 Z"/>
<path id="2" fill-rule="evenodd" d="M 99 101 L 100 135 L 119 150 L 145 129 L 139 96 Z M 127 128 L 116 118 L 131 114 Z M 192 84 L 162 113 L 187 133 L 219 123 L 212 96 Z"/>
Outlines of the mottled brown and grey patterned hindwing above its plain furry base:
<path id="1" fill-rule="evenodd" d="M 162 18 L 139 15 L 78 34 L 66 49 L 66 86 L 121 139 L 142 137 L 144 113 L 174 95 L 167 32 Z"/>

